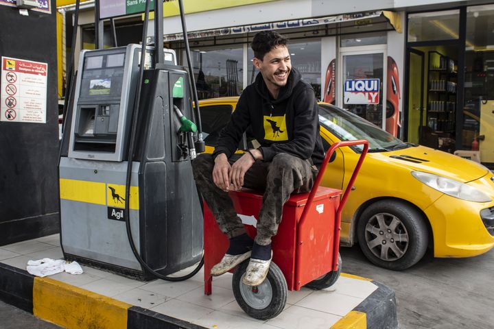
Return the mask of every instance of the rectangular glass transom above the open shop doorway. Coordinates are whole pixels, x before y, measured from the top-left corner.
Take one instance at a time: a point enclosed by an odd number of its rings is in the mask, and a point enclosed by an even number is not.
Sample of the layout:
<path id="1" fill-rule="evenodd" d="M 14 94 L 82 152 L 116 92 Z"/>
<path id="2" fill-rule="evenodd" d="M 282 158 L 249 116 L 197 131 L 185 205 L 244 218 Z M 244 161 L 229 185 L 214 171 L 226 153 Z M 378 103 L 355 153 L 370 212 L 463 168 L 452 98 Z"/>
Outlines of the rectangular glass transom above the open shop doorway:
<path id="1" fill-rule="evenodd" d="M 458 39 L 460 10 L 408 15 L 408 42 Z"/>

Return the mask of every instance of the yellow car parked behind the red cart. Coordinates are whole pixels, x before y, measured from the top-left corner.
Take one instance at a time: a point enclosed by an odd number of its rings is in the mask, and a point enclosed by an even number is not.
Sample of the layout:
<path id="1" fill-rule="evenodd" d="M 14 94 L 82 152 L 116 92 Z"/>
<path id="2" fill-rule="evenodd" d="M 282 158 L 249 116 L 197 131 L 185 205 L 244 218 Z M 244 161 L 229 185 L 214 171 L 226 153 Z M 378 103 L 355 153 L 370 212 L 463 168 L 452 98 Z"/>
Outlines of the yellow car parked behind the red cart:
<path id="1" fill-rule="evenodd" d="M 212 153 L 238 97 L 204 99 L 200 113 L 206 151 Z M 403 143 L 349 111 L 319 103 L 325 148 L 366 139 L 369 151 L 342 212 L 341 243 L 359 243 L 375 265 L 402 270 L 427 247 L 436 257 L 469 257 L 494 246 L 494 176 L 458 156 Z M 244 134 L 239 149 L 256 147 Z M 344 188 L 362 147 L 337 149 L 322 186 Z"/>

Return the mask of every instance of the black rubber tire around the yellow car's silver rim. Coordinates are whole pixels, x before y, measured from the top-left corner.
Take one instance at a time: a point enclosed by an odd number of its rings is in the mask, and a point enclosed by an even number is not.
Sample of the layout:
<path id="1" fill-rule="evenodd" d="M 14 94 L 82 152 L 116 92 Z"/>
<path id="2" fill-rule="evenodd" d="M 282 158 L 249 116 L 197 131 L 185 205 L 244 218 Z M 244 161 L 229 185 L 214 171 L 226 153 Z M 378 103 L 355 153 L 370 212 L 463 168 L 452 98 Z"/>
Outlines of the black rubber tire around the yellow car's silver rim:
<path id="1" fill-rule="evenodd" d="M 365 240 L 365 229 L 368 221 L 379 213 L 388 213 L 396 216 L 408 232 L 408 249 L 397 260 L 383 260 L 373 254 Z M 402 271 L 415 265 L 424 256 L 429 243 L 429 234 L 425 220 L 419 210 L 399 200 L 381 200 L 368 206 L 357 223 L 357 239 L 360 249 L 371 263 L 391 269 Z"/>

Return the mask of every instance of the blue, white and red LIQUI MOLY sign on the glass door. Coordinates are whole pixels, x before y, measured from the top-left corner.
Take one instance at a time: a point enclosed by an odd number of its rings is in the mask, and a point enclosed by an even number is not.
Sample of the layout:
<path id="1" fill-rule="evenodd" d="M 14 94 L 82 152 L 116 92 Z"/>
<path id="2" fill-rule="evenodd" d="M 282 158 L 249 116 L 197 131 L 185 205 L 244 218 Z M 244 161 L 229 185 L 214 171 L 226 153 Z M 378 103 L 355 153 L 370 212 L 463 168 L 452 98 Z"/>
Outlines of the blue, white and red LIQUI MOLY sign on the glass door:
<path id="1" fill-rule="evenodd" d="M 378 104 L 379 79 L 346 80 L 344 84 L 345 104 Z"/>

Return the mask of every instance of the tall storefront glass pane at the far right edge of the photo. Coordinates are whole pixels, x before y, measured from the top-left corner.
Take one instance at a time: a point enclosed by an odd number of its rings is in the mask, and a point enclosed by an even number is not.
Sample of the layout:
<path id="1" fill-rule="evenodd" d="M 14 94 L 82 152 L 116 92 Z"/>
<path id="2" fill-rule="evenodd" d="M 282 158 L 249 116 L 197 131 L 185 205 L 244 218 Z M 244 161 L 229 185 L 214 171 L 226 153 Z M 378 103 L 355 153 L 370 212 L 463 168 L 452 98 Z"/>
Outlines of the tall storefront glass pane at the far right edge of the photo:
<path id="1" fill-rule="evenodd" d="M 462 148 L 494 162 L 494 5 L 467 8 L 466 35 Z"/>

